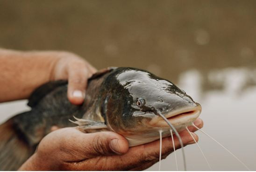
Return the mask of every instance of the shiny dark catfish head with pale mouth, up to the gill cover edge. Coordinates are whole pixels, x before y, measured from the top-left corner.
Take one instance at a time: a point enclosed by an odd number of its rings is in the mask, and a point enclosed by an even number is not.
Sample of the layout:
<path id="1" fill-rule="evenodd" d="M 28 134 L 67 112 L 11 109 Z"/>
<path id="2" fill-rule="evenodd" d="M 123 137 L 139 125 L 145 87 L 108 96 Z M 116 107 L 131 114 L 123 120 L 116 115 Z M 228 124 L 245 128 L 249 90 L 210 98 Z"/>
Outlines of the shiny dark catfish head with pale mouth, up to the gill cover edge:
<path id="1" fill-rule="evenodd" d="M 111 91 L 107 108 L 107 124 L 113 131 L 126 138 L 140 137 L 137 140 L 158 139 L 160 130 L 163 136 L 170 136 L 170 127 L 159 113 L 177 131 L 199 117 L 200 104 L 170 81 L 140 69 L 119 70 L 112 78 L 118 89 Z"/>

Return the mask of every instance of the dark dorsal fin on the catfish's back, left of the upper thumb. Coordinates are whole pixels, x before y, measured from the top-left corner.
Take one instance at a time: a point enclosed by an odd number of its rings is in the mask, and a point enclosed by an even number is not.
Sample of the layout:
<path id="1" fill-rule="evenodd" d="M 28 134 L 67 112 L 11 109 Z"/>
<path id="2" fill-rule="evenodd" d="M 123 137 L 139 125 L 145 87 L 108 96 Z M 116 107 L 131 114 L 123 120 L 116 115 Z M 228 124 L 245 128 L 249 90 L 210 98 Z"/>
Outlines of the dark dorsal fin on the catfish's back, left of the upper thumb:
<path id="1" fill-rule="evenodd" d="M 28 106 L 35 107 L 36 104 L 48 93 L 56 89 L 61 85 L 65 85 L 68 82 L 66 80 L 58 80 L 58 81 L 50 81 L 48 83 L 44 83 L 40 87 L 38 87 L 29 97 Z"/>

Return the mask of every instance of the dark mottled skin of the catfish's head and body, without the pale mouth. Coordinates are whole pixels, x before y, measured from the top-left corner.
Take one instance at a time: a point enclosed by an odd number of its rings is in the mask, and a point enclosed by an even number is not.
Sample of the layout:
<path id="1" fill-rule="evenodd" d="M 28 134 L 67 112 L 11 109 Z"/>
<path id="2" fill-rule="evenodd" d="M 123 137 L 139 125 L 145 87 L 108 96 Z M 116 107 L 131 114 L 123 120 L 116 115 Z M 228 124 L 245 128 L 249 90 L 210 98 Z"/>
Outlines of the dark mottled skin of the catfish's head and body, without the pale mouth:
<path id="1" fill-rule="evenodd" d="M 155 111 L 168 114 L 184 107 L 197 106 L 190 96 L 170 81 L 134 68 L 109 68 L 97 72 L 88 80 L 85 101 L 80 106 L 71 104 L 66 94 L 67 81 L 46 83 L 29 98 L 30 111 L 0 125 L 0 170 L 17 170 L 33 154 L 40 140 L 50 133 L 52 126 L 77 126 L 69 121 L 73 116 L 95 121 L 99 126 L 107 125 L 102 130 L 114 131 L 125 137 L 136 134 L 150 137 L 159 129 L 149 126 L 157 116 Z M 143 99 L 145 104 L 138 107 L 138 99 Z M 79 127 L 87 132 L 99 131 L 86 129 L 93 125 L 82 124 Z M 28 151 L 22 160 L 17 160 L 19 155 L 15 152 L 18 151 L 12 151 L 17 144 L 10 144 L 9 140 L 2 138 L 1 132 L 12 133 L 8 139 L 15 138 L 22 143 L 22 149 L 27 145 Z M 11 152 L 9 157 L 1 155 L 3 149 Z M 9 165 L 5 165 L 7 163 Z"/>

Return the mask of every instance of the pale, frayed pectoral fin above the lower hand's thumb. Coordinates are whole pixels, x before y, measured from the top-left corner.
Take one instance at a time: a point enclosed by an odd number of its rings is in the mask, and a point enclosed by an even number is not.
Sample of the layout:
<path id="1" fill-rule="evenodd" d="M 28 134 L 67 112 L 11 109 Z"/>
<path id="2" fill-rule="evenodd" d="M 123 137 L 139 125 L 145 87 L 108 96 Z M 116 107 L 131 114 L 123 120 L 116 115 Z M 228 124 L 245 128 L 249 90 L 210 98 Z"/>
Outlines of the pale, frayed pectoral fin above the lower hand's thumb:
<path id="1" fill-rule="evenodd" d="M 70 122 L 77 124 L 79 129 L 90 130 L 90 129 L 104 129 L 107 128 L 107 125 L 103 122 L 92 121 L 87 119 L 79 119 L 74 117 L 76 121 L 69 120 Z"/>

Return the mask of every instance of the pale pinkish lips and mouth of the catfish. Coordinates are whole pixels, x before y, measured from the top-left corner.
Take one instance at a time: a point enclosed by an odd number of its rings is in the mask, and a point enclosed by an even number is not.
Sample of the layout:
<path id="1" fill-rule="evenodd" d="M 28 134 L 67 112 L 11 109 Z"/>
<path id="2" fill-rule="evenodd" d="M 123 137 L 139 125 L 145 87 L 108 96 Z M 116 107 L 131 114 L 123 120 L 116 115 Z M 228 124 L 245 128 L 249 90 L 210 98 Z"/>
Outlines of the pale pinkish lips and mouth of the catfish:
<path id="1" fill-rule="evenodd" d="M 168 121 L 171 122 L 171 124 L 177 129 L 177 131 L 181 131 L 182 129 L 185 129 L 186 126 L 191 125 L 192 122 L 199 117 L 201 111 L 201 105 L 199 103 L 196 103 L 196 106 L 187 107 L 181 110 L 175 110 L 163 115 L 168 119 Z M 149 122 L 149 124 L 154 127 L 170 128 L 169 125 L 164 121 L 164 119 L 159 116 L 153 118 Z"/>

